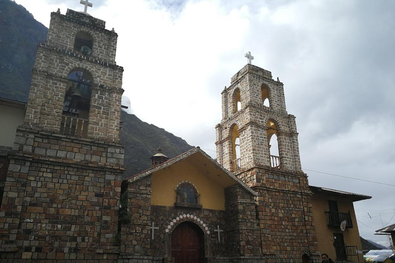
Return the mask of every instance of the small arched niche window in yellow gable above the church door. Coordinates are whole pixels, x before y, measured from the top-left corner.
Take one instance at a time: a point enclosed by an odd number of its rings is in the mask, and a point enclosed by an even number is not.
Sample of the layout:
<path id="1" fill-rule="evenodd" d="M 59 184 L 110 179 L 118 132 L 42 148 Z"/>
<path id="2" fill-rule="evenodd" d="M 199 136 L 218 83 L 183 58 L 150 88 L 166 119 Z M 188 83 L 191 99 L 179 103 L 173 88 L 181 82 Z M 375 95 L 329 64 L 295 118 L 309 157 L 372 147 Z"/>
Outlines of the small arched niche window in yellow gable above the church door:
<path id="1" fill-rule="evenodd" d="M 200 208 L 200 194 L 197 192 L 195 186 L 190 182 L 180 183 L 176 189 L 176 206 L 188 206 Z"/>

